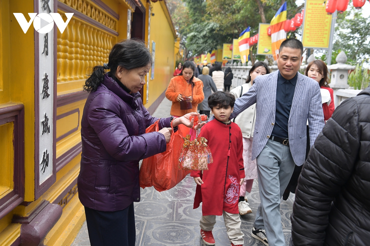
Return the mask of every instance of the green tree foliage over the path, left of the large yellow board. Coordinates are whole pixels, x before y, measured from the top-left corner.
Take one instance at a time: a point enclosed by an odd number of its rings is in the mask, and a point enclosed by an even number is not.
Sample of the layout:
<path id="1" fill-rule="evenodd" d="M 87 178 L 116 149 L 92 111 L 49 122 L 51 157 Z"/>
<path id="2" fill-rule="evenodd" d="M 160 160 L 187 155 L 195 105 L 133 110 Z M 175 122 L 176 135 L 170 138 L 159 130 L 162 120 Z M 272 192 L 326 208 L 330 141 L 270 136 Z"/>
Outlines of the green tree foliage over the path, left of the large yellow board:
<path id="1" fill-rule="evenodd" d="M 231 43 L 250 26 L 251 36 L 258 33 L 259 23 L 270 22 L 284 3 L 282 0 L 168 0 L 176 8 L 172 19 L 182 35 L 189 55 L 210 52 Z M 287 18 L 302 10 L 295 0 L 287 0 Z"/>

